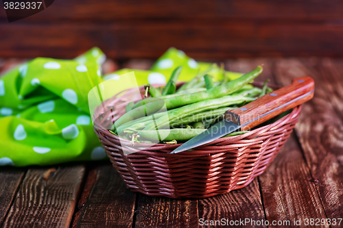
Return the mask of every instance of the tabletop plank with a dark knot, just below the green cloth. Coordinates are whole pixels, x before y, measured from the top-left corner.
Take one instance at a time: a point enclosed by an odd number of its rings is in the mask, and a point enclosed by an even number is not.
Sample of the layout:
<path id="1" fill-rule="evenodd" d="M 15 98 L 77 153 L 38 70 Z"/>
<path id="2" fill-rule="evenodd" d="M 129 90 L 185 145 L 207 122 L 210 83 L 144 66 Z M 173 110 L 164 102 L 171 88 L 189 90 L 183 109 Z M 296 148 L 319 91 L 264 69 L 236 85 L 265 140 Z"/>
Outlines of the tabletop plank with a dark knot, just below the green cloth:
<path id="1" fill-rule="evenodd" d="M 3 227 L 69 227 L 84 166 L 30 168 Z"/>

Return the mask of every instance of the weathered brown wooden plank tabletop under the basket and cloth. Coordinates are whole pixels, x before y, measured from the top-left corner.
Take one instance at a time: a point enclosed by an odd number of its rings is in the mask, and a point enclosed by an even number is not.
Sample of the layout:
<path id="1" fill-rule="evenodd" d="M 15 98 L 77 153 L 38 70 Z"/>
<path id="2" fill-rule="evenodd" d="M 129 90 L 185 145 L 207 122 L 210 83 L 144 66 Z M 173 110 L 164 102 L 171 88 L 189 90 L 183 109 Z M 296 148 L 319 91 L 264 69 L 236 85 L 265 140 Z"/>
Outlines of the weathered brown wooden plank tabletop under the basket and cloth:
<path id="1" fill-rule="evenodd" d="M 268 220 L 269 227 L 275 227 L 274 220 L 285 224 L 289 220 L 293 227 L 294 220 L 305 226 L 307 218 L 314 218 L 315 224 L 317 218 L 335 218 L 331 227 L 343 227 L 343 221 L 338 225 L 343 218 L 343 60 L 224 63 L 228 70 L 241 72 L 265 64 L 259 80 L 270 78 L 281 86 L 305 75 L 316 81 L 314 99 L 303 105 L 295 134 L 265 173 L 246 188 L 209 199 L 178 200 L 131 192 L 110 162 L 3 167 L 0 227 L 198 227 L 200 220 L 222 218 L 255 220 L 255 227 L 268 227 L 257 225 L 261 220 Z M 0 60 L 0 64 L 5 70 L 9 63 Z M 151 64 L 130 60 L 119 67 Z M 238 227 L 254 227 L 251 223 Z"/>

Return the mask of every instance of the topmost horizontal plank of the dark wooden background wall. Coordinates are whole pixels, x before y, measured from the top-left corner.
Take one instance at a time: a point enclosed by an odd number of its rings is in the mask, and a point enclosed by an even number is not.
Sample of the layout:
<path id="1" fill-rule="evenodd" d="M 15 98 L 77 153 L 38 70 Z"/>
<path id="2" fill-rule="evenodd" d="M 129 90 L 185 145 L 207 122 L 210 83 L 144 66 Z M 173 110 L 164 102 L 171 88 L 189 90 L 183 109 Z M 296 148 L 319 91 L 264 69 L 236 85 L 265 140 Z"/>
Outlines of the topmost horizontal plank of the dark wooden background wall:
<path id="1" fill-rule="evenodd" d="M 252 18 L 288 20 L 327 20 L 342 18 L 342 2 L 305 1 L 91 1 L 59 0 L 25 21 L 119 21 L 123 19 L 211 19 Z M 5 16 L 3 8 L 1 17 Z"/>

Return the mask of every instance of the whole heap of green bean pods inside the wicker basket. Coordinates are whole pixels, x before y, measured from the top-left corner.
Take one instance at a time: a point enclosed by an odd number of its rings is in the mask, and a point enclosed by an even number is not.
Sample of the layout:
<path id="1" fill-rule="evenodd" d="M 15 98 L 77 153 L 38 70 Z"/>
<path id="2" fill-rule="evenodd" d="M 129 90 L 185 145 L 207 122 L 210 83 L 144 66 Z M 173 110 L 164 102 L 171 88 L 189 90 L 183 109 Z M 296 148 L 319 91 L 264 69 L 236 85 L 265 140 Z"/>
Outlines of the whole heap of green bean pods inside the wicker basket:
<path id="1" fill-rule="evenodd" d="M 209 72 L 214 67 L 215 64 L 180 87 L 176 82 L 182 66 L 173 71 L 164 87 L 154 88 L 147 84 L 145 99 L 128 103 L 126 114 L 115 122 L 111 132 L 132 140 L 132 143 L 150 143 L 154 142 L 157 131 L 159 142 L 176 144 L 197 136 L 221 121 L 226 110 L 241 107 L 271 91 L 267 81 L 262 88 L 249 84 L 261 74 L 262 66 L 231 81 L 225 75 L 222 81 L 213 81 Z M 162 105 L 166 112 L 158 112 Z"/>

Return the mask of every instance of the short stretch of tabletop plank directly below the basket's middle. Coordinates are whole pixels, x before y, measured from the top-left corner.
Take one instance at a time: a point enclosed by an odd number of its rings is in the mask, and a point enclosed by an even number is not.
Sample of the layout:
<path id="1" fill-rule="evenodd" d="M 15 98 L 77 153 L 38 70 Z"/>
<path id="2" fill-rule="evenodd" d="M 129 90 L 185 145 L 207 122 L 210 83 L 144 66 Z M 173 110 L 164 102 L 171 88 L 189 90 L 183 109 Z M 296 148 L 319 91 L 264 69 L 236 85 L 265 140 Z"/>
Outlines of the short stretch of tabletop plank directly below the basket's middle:
<path id="1" fill-rule="evenodd" d="M 198 227 L 198 200 L 139 194 L 134 227 Z"/>

